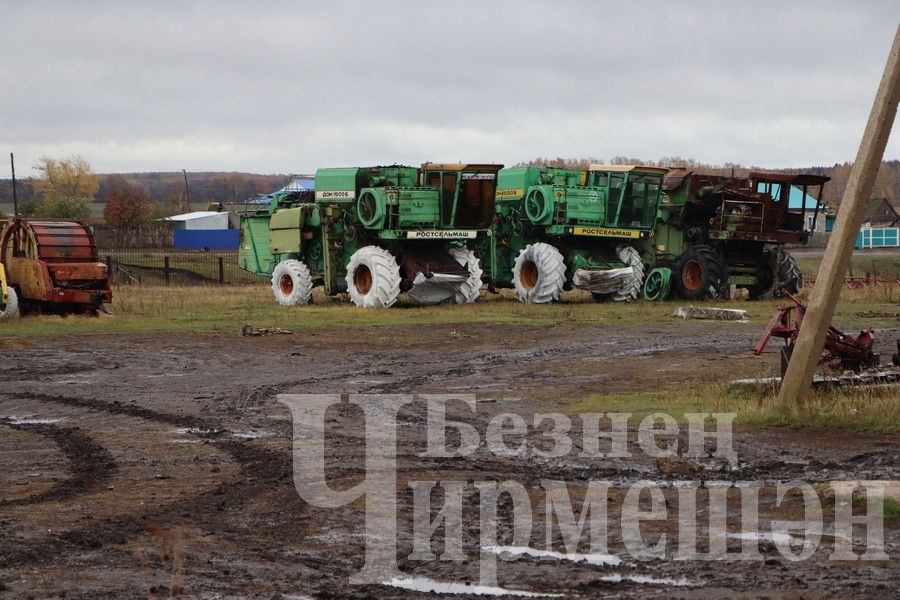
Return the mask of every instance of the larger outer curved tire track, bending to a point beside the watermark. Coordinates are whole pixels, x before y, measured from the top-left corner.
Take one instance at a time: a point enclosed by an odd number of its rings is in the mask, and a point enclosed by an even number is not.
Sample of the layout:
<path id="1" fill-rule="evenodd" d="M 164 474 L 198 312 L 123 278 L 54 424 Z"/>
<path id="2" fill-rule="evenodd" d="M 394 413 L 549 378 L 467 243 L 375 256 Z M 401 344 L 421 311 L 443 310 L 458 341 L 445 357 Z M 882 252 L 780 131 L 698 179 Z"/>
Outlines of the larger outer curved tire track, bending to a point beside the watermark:
<path id="1" fill-rule="evenodd" d="M 40 540 L 6 540 L 0 548 L 0 568 L 53 562 L 56 556 L 66 550 L 99 549 L 106 544 L 122 544 L 129 537 L 146 532 L 148 526 L 153 523 L 169 523 L 182 518 L 215 515 L 226 509 L 241 506 L 260 492 L 290 481 L 293 476 L 290 456 L 287 453 L 256 448 L 243 441 L 215 439 L 218 437 L 218 433 L 215 432 L 221 432 L 223 428 L 217 422 L 208 419 L 161 413 L 118 402 L 107 403 L 93 399 L 30 392 L 20 392 L 16 395 L 39 402 L 104 411 L 158 423 L 194 427 L 201 432 L 213 432 L 201 435 L 213 439 L 217 447 L 225 450 L 240 465 L 241 473 L 238 478 L 222 482 L 212 490 L 161 506 L 157 510 L 104 519 L 102 523 L 88 528 L 70 529 Z"/>

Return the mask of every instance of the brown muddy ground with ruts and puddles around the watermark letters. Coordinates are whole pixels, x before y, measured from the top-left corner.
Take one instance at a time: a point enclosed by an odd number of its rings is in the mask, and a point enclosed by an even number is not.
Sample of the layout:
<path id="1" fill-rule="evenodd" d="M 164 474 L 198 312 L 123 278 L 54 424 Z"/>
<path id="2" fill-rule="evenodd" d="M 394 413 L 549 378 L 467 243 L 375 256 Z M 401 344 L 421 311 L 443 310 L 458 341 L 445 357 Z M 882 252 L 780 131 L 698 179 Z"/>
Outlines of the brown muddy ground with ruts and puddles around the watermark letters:
<path id="1" fill-rule="evenodd" d="M 474 393 L 482 401 L 476 416 L 452 412 L 483 434 L 499 412 L 571 412 L 566 399 L 588 394 L 763 374 L 777 356 L 752 355 L 756 333 L 734 323 L 473 324 L 258 338 L 0 339 L 0 596 L 417 597 L 348 583 L 363 564 L 362 503 L 315 508 L 298 497 L 290 412 L 276 394 Z M 880 332 L 882 351 L 898 333 Z M 412 561 L 411 479 L 514 480 L 538 507 L 542 479 L 568 482 L 573 497 L 588 480 L 611 481 L 610 523 L 637 480 L 665 486 L 672 505 L 674 481 L 900 479 L 900 436 L 891 434 L 739 428 L 740 462 L 728 469 L 639 453 L 579 458 L 577 437 L 572 454 L 557 459 L 498 457 L 483 447 L 465 459 L 423 458 L 424 404 L 404 409 L 400 421 L 399 567 L 446 583 L 477 580 L 476 495 L 466 492 L 469 560 Z M 336 487 L 360 480 L 361 425 L 356 410 L 329 413 L 327 467 Z M 762 529 L 801 510 L 795 497 L 776 509 L 771 492 L 762 493 Z M 501 501 L 502 517 L 507 508 Z M 546 549 L 542 511 L 531 545 Z M 673 518 L 645 529 L 649 542 L 661 533 L 674 547 Z M 801 562 L 786 560 L 771 540 L 760 542 L 754 561 L 637 561 L 611 525 L 609 553 L 619 564 L 523 556 L 501 562 L 498 580 L 507 590 L 563 597 L 887 598 L 900 581 L 897 521 L 887 523 L 885 538 L 887 561 L 830 561 L 828 535 Z"/>

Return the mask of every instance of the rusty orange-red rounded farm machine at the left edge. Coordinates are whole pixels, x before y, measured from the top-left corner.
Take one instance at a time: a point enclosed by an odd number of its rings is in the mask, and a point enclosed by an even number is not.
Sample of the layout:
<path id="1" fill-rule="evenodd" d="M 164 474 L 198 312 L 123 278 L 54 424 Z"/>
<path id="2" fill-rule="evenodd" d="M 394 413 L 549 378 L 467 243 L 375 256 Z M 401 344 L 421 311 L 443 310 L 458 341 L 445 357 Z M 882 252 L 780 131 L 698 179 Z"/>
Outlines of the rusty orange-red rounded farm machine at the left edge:
<path id="1" fill-rule="evenodd" d="M 107 267 L 82 221 L 10 219 L 0 264 L 24 310 L 96 314 L 112 301 Z"/>

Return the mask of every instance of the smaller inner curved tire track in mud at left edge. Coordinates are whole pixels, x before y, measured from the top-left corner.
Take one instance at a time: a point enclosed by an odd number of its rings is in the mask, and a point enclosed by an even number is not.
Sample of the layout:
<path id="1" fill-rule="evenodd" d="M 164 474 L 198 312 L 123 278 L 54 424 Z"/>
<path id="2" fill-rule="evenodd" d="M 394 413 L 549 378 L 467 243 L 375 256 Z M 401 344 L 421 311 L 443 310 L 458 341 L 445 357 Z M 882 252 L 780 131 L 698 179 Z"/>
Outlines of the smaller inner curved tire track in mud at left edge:
<path id="1" fill-rule="evenodd" d="M 72 473 L 71 477 L 43 492 L 25 498 L 0 500 L 0 508 L 70 500 L 102 486 L 118 471 L 118 464 L 106 448 L 95 442 L 79 427 L 9 421 L 0 423 L 12 429 L 37 433 L 52 440 L 65 455 L 69 462 L 68 469 Z"/>

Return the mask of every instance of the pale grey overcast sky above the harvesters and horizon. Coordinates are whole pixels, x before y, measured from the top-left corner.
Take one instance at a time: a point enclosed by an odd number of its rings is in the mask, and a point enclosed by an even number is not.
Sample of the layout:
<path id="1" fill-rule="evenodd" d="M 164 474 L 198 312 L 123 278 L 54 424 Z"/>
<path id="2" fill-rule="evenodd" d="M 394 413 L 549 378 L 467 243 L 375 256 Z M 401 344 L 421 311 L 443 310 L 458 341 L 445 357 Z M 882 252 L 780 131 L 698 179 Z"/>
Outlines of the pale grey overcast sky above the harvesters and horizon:
<path id="1" fill-rule="evenodd" d="M 852 160 L 900 3 L 0 0 L 20 176 Z M 900 158 L 892 136 L 886 158 Z M 0 177 L 9 166 L 0 161 Z"/>

